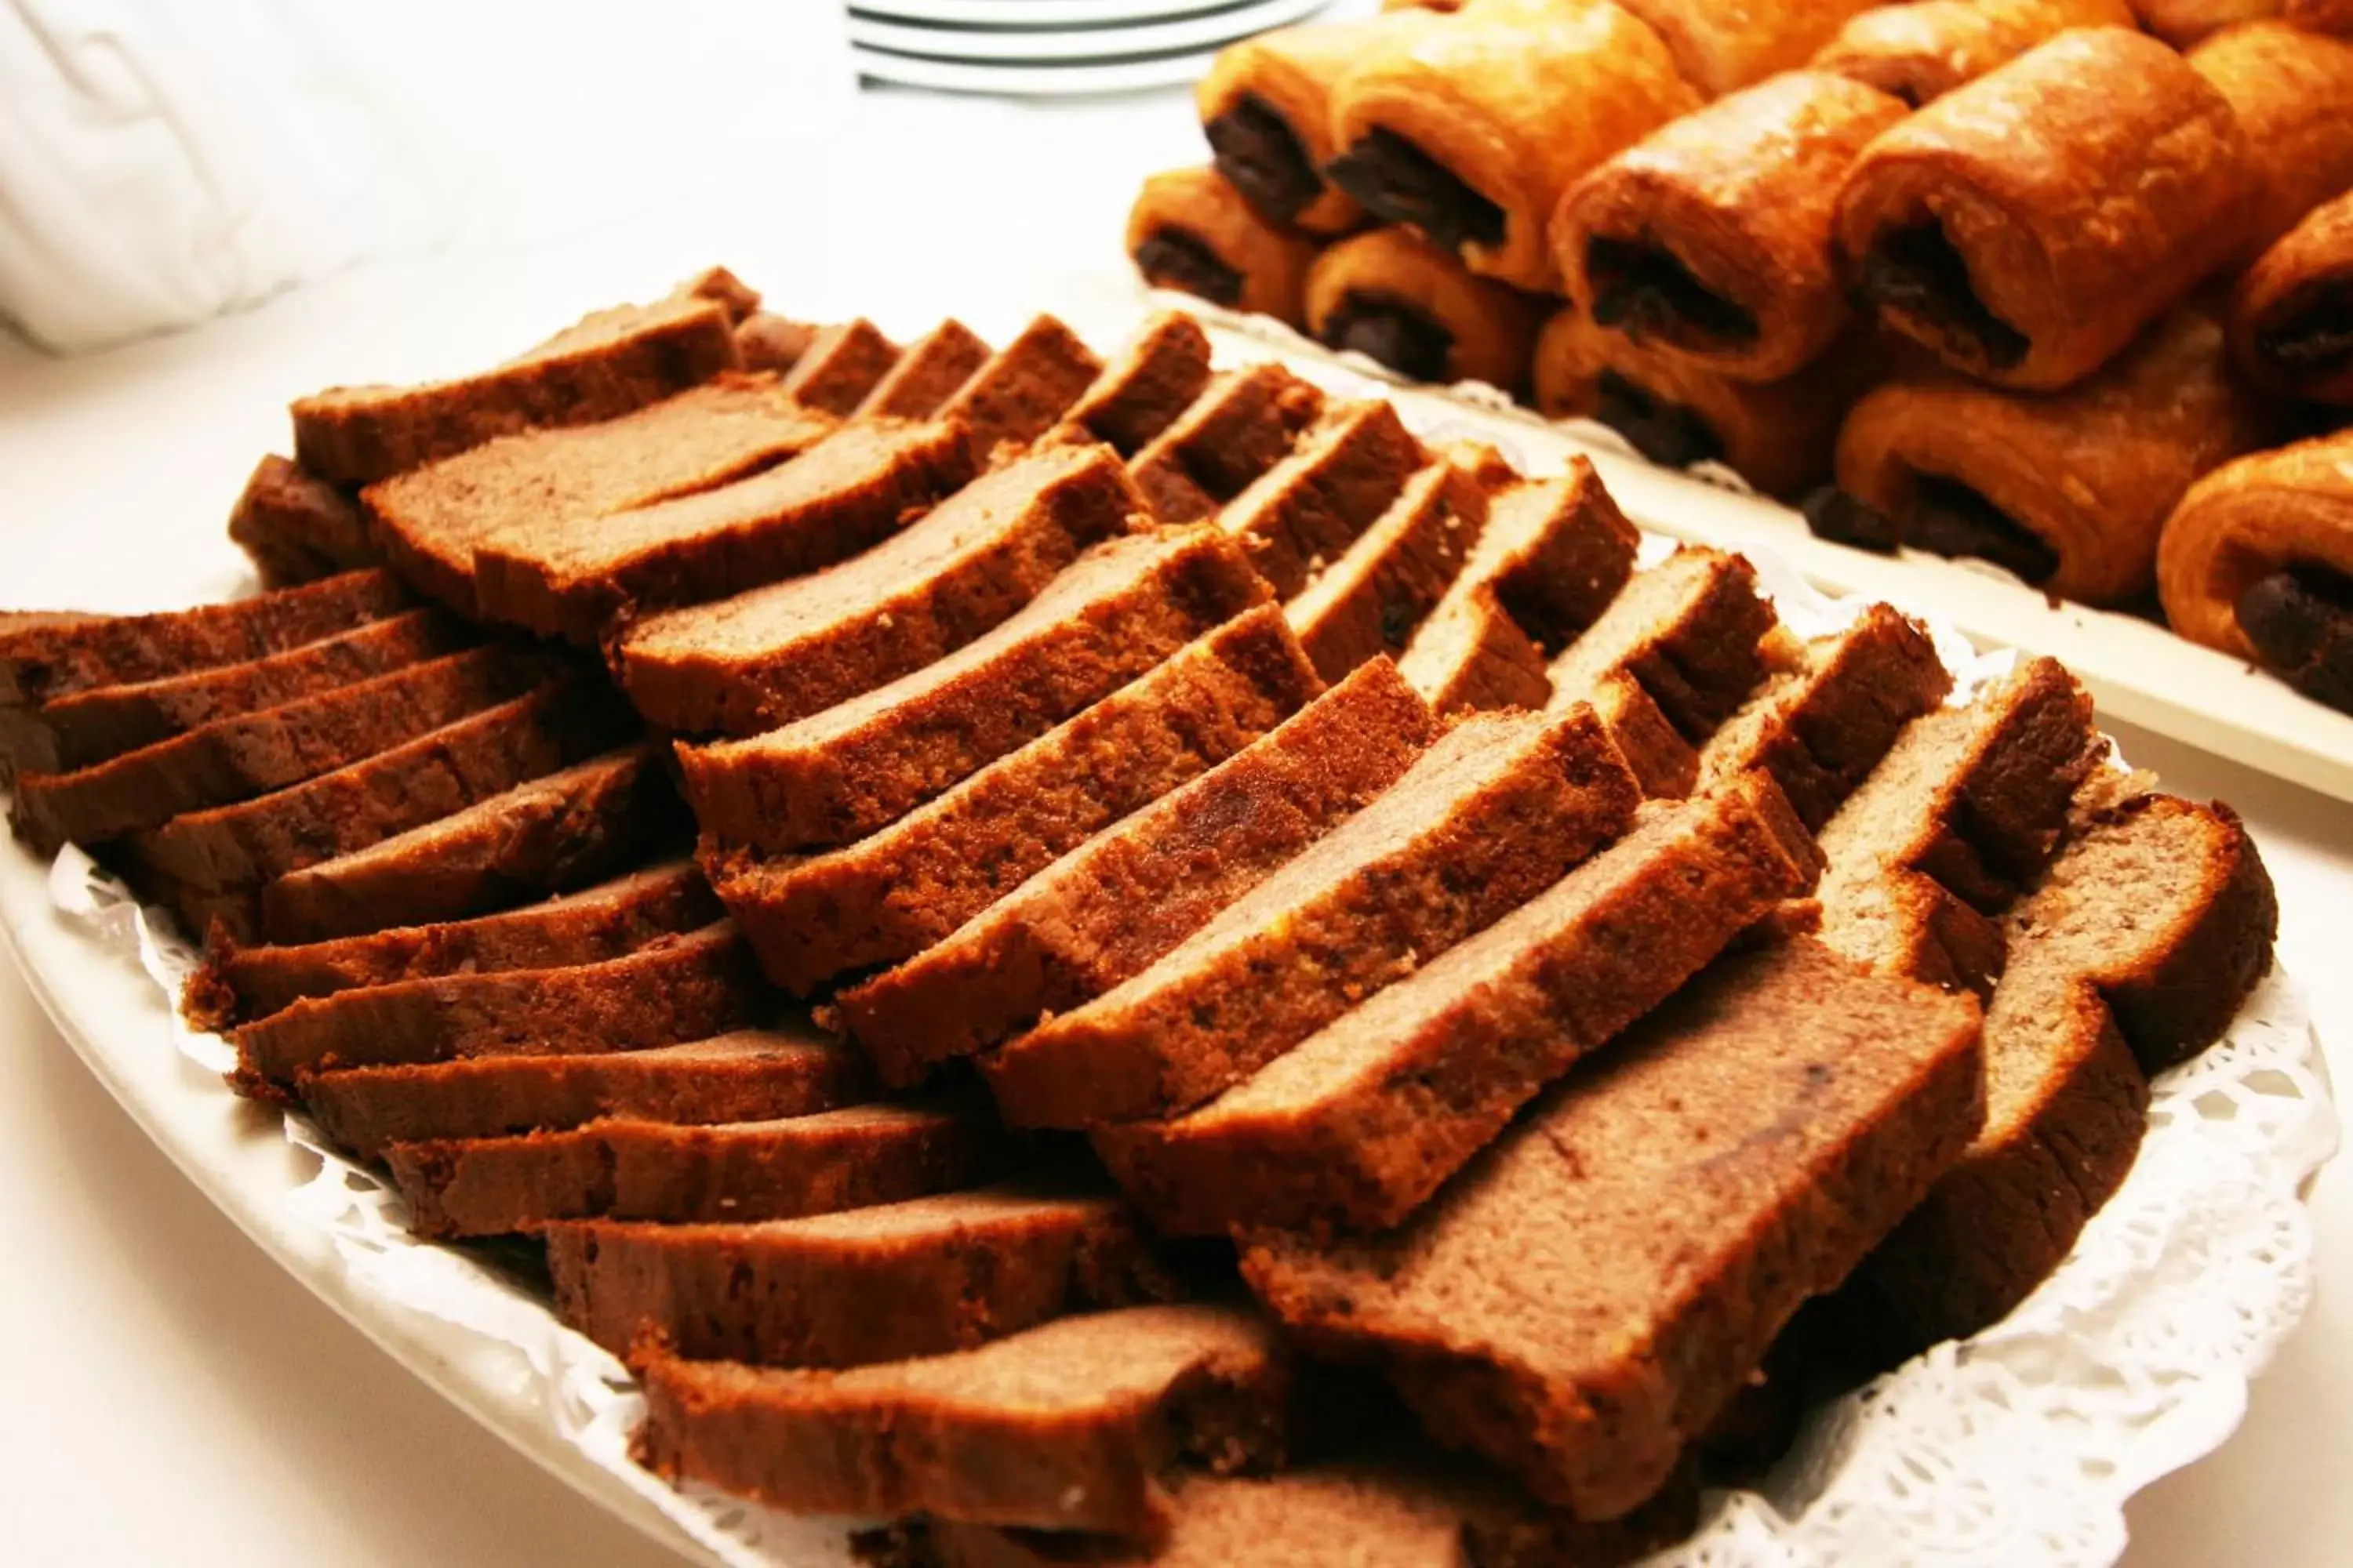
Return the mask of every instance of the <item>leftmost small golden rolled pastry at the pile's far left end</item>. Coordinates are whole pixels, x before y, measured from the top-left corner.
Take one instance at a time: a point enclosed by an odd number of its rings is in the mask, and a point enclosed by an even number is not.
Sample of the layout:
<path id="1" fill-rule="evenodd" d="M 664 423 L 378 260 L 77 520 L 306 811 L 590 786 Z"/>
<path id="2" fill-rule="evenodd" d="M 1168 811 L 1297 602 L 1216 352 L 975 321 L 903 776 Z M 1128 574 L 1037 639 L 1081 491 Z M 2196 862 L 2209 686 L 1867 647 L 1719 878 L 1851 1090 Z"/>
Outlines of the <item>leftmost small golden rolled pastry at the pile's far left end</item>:
<path id="1" fill-rule="evenodd" d="M 1315 244 L 1252 212 L 1217 169 L 1172 169 L 1144 181 L 1127 214 L 1127 254 L 1155 289 L 1297 327 Z"/>

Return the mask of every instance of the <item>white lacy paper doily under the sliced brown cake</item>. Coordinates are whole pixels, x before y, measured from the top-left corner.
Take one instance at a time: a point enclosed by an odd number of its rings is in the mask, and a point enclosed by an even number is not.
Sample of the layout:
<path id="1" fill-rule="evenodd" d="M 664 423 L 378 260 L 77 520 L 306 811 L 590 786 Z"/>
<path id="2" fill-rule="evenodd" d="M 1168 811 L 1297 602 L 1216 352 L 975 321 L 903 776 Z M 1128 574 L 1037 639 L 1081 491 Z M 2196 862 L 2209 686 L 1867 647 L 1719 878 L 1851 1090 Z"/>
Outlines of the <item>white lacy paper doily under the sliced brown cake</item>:
<path id="1" fill-rule="evenodd" d="M 1327 376 L 1329 378 L 1329 376 Z M 1374 378 L 1360 390 L 1377 390 Z M 1419 435 L 1506 447 L 1475 416 Z M 1645 536 L 1642 559 L 1673 550 Z M 1751 550 L 1781 621 L 1802 637 L 1845 625 L 1833 602 Z M 1929 618 L 1953 701 L 2012 665 Z M 195 952 L 75 849 L 49 875 L 54 907 L 132 957 L 176 999 Z M 214 1034 L 172 1023 L 205 1070 L 233 1065 Z M 219 1093 L 228 1093 L 226 1084 Z M 2254 1378 L 2304 1316 L 2313 1227 L 2301 1192 L 2337 1152 L 2337 1110 L 2301 990 L 2273 971 L 2212 1051 L 2155 1079 L 2132 1175 L 2066 1265 L 2009 1319 L 1939 1345 L 1817 1410 L 1762 1486 L 1711 1497 L 1701 1530 L 1654 1568 L 2094 1568 L 2125 1549 L 2125 1500 L 2214 1450 Z M 793 1519 L 708 1488 L 673 1490 L 628 1460 L 645 1401 L 626 1368 L 565 1328 L 494 1265 L 407 1234 L 402 1201 L 334 1154 L 299 1114 L 285 1135 L 318 1175 L 285 1194 L 332 1237 L 353 1281 L 405 1309 L 518 1349 L 551 1427 L 729 1568 L 847 1568 L 842 1521 Z"/>

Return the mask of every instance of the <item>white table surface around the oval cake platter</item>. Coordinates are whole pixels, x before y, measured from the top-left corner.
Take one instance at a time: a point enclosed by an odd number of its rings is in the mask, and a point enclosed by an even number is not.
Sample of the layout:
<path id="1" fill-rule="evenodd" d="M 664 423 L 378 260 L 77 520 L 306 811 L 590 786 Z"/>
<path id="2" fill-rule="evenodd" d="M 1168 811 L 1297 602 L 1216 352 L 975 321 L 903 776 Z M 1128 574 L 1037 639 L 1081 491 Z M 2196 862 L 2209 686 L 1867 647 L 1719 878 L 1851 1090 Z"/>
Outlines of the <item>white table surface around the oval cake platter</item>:
<path id="1" fill-rule="evenodd" d="M 221 520 L 287 397 L 464 369 L 727 261 L 795 315 L 1002 336 L 1122 294 L 1136 179 L 1198 158 L 1176 94 L 1012 108 L 868 94 L 835 179 L 619 226 L 560 254 L 384 266 L 181 339 L 49 362 L 0 339 L 0 607 L 146 609 L 235 585 Z M 2233 802 L 2280 886 L 2280 957 L 2353 1088 L 2353 809 L 2153 736 L 2127 755 Z M 2132 1507 L 2134 1568 L 2344 1563 L 2353 1166 L 2313 1192 L 2322 1288 L 2231 1443 Z M 7 1563 L 675 1561 L 409 1380 L 144 1143 L 0 964 L 0 1425 Z"/>

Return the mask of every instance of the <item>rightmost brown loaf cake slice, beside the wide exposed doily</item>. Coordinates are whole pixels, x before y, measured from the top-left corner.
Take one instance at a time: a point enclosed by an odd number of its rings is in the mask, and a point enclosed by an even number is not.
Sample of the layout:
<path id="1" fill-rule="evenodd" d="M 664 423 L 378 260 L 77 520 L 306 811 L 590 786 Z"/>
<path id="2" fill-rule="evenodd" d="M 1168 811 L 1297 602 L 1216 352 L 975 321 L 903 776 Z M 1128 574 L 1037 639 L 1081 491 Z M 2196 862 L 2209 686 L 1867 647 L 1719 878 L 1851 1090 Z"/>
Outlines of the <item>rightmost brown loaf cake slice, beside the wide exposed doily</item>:
<path id="1" fill-rule="evenodd" d="M 2097 816 L 2005 931 L 1986 1128 L 1842 1300 L 1897 1356 L 2000 1321 L 2066 1260 L 2141 1147 L 2141 1070 L 2221 1037 L 2278 900 L 2228 806 L 2148 795 Z"/>

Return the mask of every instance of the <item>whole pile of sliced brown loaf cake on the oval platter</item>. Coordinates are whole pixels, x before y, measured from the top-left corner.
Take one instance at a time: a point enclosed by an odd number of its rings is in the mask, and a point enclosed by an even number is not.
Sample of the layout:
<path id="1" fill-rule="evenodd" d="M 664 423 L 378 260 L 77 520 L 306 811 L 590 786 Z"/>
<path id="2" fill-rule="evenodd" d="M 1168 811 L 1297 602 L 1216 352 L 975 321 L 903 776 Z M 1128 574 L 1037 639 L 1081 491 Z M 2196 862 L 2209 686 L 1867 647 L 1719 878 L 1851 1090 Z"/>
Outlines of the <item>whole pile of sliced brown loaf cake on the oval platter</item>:
<path id="1" fill-rule="evenodd" d="M 2271 961 L 2054 663 L 1946 705 L 1184 315 L 711 275 L 294 428 L 235 529 L 325 576 L 0 628 L 19 827 L 419 1234 L 546 1246 L 647 1465 L 880 1561 L 1675 1540 L 2033 1291 Z"/>

